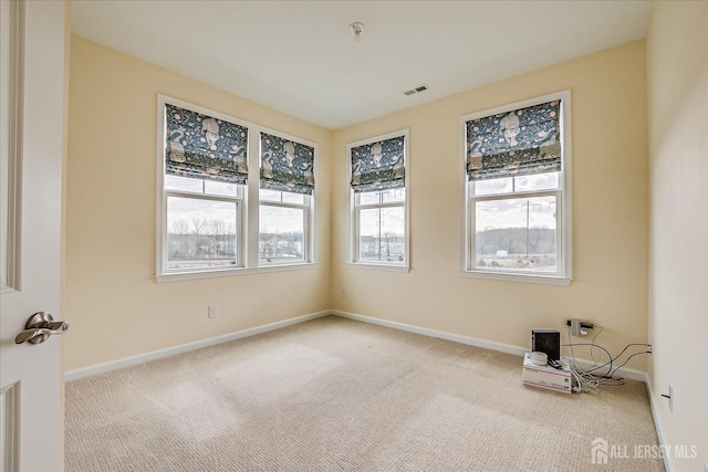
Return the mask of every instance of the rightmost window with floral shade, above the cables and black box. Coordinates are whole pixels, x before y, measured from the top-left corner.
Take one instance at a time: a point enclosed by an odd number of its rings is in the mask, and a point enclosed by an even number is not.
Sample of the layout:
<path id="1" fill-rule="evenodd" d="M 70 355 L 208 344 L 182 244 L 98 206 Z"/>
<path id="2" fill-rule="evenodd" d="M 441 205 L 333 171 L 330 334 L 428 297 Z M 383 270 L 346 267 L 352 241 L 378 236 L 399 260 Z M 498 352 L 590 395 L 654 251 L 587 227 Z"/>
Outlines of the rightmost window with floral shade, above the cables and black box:
<path id="1" fill-rule="evenodd" d="M 464 274 L 570 283 L 570 92 L 461 122 Z"/>

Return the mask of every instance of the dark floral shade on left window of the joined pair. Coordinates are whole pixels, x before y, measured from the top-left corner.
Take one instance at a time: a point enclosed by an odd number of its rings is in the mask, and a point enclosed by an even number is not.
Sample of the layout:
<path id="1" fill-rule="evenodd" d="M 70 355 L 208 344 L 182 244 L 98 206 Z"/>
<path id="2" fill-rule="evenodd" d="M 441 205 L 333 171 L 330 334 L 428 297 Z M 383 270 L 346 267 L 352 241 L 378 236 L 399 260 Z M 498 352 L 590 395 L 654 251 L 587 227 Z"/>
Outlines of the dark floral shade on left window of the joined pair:
<path id="1" fill-rule="evenodd" d="M 248 128 L 169 104 L 165 116 L 166 174 L 246 183 Z"/>

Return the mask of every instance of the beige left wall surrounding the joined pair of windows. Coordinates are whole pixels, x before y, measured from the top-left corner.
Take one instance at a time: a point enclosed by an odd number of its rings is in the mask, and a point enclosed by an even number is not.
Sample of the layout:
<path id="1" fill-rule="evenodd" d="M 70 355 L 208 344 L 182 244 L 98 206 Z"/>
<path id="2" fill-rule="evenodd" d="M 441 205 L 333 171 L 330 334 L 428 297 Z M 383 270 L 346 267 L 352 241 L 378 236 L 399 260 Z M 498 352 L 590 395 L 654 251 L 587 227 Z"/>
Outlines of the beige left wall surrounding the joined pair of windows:
<path id="1" fill-rule="evenodd" d="M 156 283 L 157 94 L 319 144 L 313 270 Z M 71 42 L 63 314 L 72 370 L 330 307 L 331 132 L 79 36 Z M 207 306 L 218 305 L 218 317 Z"/>

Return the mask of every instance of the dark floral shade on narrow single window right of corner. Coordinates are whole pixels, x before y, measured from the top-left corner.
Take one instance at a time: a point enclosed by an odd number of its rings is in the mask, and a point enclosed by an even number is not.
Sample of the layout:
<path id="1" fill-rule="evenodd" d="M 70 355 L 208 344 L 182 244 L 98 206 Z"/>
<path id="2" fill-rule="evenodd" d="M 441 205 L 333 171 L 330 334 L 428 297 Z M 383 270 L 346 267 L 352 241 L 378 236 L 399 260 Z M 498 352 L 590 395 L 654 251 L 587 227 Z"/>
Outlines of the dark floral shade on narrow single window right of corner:
<path id="1" fill-rule="evenodd" d="M 355 192 L 406 186 L 405 136 L 353 147 L 352 189 Z"/>

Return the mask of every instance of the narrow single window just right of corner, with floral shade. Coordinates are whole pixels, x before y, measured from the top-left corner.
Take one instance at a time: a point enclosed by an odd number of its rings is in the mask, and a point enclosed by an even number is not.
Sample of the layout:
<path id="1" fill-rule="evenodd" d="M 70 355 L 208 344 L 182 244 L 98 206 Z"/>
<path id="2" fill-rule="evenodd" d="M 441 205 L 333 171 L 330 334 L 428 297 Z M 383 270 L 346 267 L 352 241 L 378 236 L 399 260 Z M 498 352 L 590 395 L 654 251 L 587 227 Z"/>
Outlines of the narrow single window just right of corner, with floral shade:
<path id="1" fill-rule="evenodd" d="M 348 146 L 354 265 L 408 269 L 407 141 L 404 130 Z"/>

